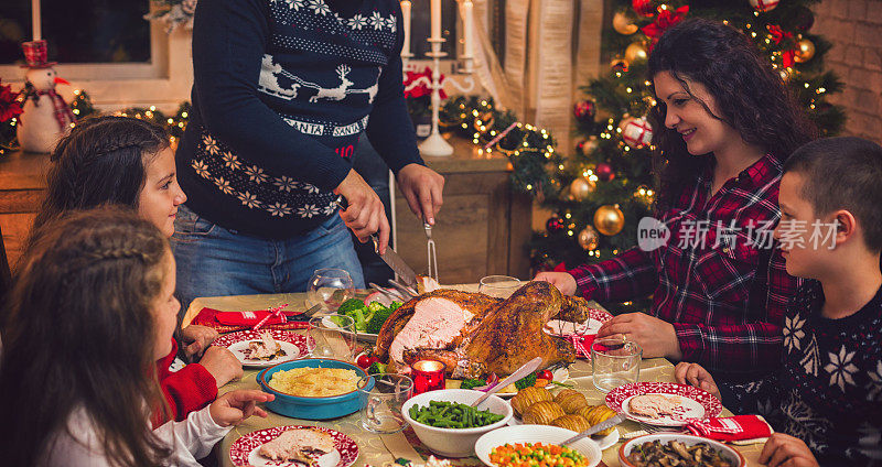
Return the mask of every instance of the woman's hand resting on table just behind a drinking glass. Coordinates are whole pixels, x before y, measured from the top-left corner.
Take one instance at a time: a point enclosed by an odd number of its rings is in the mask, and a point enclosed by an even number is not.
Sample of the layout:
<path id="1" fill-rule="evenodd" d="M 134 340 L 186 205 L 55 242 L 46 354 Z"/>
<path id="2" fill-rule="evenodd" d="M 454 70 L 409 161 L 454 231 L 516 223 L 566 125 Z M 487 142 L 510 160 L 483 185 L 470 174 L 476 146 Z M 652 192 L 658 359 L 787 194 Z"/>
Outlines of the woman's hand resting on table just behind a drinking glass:
<path id="1" fill-rule="evenodd" d="M 622 336 L 639 344 L 644 358 L 682 358 L 674 326 L 645 313 L 626 313 L 604 323 L 598 330 L 598 338 L 611 336 Z"/>

